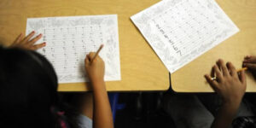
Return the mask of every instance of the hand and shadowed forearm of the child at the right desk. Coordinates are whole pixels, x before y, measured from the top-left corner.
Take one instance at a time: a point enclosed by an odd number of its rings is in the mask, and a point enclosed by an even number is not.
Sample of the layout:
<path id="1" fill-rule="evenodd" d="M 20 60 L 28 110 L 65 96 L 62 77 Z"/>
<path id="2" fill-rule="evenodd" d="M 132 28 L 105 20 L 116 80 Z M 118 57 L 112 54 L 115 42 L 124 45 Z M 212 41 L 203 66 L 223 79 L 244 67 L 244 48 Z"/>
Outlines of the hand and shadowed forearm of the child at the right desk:
<path id="1" fill-rule="evenodd" d="M 223 105 L 218 110 L 212 128 L 227 128 L 230 127 L 233 118 L 236 116 L 236 111 L 245 93 L 246 77 L 244 71 L 241 71 L 238 75 L 232 63 L 228 62 L 225 66 L 223 60 L 218 60 L 217 65 L 212 68 L 212 74 L 216 74 L 218 79 L 212 80 L 207 74 L 205 77 L 212 89 L 223 99 Z"/>

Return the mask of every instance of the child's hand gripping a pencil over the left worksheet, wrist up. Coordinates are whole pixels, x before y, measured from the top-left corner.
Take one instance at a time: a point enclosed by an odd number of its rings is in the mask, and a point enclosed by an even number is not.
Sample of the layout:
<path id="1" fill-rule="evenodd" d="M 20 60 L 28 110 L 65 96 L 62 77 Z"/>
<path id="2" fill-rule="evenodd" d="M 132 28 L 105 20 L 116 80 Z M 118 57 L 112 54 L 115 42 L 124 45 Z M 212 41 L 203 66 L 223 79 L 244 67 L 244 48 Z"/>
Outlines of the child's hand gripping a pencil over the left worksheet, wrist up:
<path id="1" fill-rule="evenodd" d="M 93 83 L 104 81 L 105 74 L 105 64 L 99 55 L 97 55 L 96 58 L 91 61 L 95 54 L 96 53 L 94 52 L 90 52 L 89 55 L 86 55 L 84 60 L 86 73 L 88 74 L 90 81 Z"/>

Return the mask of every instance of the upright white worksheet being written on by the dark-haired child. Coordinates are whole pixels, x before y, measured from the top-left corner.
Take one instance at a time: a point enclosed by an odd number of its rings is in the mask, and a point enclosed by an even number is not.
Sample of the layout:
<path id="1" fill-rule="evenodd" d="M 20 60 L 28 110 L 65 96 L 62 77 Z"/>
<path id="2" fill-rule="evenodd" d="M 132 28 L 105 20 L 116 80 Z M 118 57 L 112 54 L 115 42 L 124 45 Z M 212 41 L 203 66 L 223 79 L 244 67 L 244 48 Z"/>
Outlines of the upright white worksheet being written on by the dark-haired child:
<path id="1" fill-rule="evenodd" d="M 85 55 L 100 52 L 105 62 L 105 80 L 120 80 L 119 34 L 117 15 L 29 18 L 26 34 L 43 34 L 38 49 L 54 66 L 59 83 L 89 81 L 84 69 Z"/>

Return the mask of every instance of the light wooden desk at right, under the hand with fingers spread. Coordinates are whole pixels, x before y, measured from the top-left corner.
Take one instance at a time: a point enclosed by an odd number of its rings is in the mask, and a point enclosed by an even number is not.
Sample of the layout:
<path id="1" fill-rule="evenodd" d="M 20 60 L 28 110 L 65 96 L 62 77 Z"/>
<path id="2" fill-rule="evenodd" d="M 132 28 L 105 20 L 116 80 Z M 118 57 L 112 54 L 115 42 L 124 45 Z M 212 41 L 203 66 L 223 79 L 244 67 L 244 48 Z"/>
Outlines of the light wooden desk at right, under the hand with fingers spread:
<path id="1" fill-rule="evenodd" d="M 240 68 L 245 55 L 256 55 L 256 1 L 217 0 L 217 2 L 240 28 L 240 32 L 172 73 L 172 89 L 177 92 L 212 92 L 203 75 L 210 73 L 211 67 L 218 58 L 231 61 L 236 68 Z M 247 91 L 256 91 L 256 80 L 251 73 L 247 73 Z"/>

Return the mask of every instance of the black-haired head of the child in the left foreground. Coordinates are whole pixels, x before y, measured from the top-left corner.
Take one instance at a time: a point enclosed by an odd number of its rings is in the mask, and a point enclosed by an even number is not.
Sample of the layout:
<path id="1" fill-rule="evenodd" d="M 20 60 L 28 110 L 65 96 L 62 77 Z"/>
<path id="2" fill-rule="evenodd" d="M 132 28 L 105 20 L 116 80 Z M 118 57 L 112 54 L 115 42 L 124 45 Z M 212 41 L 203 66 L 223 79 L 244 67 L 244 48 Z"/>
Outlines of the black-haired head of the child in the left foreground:
<path id="1" fill-rule="evenodd" d="M 0 47 L 0 127 L 53 127 L 57 77 L 44 56 Z"/>

